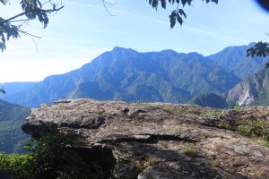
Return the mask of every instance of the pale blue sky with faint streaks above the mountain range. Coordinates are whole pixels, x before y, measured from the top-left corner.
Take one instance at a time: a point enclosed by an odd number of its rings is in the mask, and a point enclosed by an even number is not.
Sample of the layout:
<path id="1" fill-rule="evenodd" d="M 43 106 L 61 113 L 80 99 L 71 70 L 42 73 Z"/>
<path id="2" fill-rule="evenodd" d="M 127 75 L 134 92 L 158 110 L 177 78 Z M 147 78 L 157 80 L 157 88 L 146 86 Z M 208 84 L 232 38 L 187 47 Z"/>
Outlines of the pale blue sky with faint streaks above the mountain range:
<path id="1" fill-rule="evenodd" d="M 17 1 L 0 6 L 0 16 L 20 13 Z M 169 28 L 169 13 L 157 12 L 146 0 L 110 0 L 108 15 L 101 0 L 63 0 L 65 8 L 50 17 L 43 30 L 32 21 L 26 30 L 39 38 L 11 40 L 0 54 L 0 82 L 41 81 L 46 76 L 79 68 L 113 47 L 137 51 L 173 49 L 214 54 L 224 47 L 269 41 L 269 13 L 253 0 L 220 0 L 205 4 L 195 0 L 186 6 L 183 26 Z"/>

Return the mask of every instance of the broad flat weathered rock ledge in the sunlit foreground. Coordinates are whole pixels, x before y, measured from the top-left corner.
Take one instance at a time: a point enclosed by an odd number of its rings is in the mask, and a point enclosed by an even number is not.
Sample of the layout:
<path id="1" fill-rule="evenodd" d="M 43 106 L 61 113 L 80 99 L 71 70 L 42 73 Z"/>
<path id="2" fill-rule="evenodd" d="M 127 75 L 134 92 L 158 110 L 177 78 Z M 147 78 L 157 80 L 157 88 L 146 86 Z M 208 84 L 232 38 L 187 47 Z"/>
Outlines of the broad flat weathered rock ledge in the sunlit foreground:
<path id="1" fill-rule="evenodd" d="M 99 158 L 116 178 L 269 178 L 269 148 L 220 125 L 268 123 L 268 111 L 72 99 L 32 109 L 22 129 L 82 136 L 84 158 Z"/>

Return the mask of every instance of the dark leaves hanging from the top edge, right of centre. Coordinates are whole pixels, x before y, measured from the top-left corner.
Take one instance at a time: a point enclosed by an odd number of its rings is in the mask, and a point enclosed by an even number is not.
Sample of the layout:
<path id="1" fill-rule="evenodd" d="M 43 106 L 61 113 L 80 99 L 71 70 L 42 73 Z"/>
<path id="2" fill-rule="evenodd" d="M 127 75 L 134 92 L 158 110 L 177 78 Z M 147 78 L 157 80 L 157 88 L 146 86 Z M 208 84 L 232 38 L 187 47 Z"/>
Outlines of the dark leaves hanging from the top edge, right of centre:
<path id="1" fill-rule="evenodd" d="M 158 9 L 158 4 L 161 3 L 161 7 L 163 9 L 166 9 L 167 4 L 173 5 L 176 4 L 177 8 L 172 11 L 172 13 L 169 15 L 169 21 L 170 21 L 170 28 L 173 29 L 176 25 L 177 21 L 180 25 L 183 24 L 183 18 L 187 18 L 186 13 L 183 9 L 178 8 L 179 4 L 182 4 L 184 7 L 186 4 L 191 5 L 194 0 L 149 0 L 149 4 L 152 5 L 152 8 L 155 8 L 156 11 Z M 203 0 L 204 1 L 204 0 Z M 219 3 L 219 0 L 205 0 L 205 2 L 208 4 L 210 2 L 213 2 L 215 4 Z"/>

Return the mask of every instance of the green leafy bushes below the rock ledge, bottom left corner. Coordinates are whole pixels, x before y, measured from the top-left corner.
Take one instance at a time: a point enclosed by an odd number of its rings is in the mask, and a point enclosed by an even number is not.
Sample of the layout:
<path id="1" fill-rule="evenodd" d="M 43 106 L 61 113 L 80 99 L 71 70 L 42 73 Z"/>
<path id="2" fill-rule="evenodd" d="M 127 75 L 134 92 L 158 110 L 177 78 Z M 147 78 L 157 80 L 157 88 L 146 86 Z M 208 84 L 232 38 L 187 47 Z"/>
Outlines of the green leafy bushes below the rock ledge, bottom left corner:
<path id="1" fill-rule="evenodd" d="M 98 163 L 86 163 L 72 148 L 80 138 L 70 134 L 43 134 L 38 141 L 30 140 L 24 147 L 26 155 L 0 153 L 0 176 L 18 179 L 87 179 L 108 178 L 109 173 Z"/>

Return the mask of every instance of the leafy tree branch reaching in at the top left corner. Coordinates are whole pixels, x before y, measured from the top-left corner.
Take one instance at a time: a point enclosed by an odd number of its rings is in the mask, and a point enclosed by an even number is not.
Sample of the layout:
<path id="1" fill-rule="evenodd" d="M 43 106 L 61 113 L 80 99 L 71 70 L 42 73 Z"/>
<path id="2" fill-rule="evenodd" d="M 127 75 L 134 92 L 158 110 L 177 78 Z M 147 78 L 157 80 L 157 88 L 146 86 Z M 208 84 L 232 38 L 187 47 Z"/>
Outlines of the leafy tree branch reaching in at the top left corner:
<path id="1" fill-rule="evenodd" d="M 7 2 L 7 0 L 0 1 L 0 3 L 4 5 L 7 4 Z M 5 42 L 10 38 L 19 38 L 21 33 L 31 35 L 22 30 L 24 23 L 38 19 L 41 23 L 43 23 L 45 29 L 48 25 L 48 13 L 55 13 L 64 7 L 61 6 L 56 8 L 56 4 L 51 1 L 48 1 L 47 3 L 51 4 L 50 8 L 43 9 L 43 4 L 39 0 L 21 0 L 22 13 L 8 19 L 0 17 L 0 49 L 2 52 L 6 48 Z M 18 23 L 19 21 L 20 23 Z"/>

